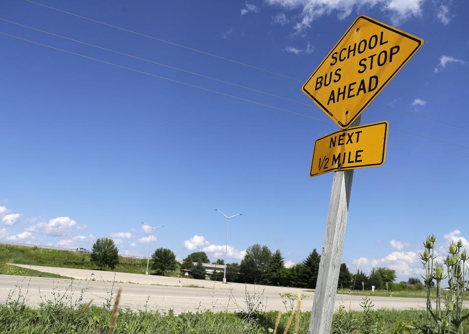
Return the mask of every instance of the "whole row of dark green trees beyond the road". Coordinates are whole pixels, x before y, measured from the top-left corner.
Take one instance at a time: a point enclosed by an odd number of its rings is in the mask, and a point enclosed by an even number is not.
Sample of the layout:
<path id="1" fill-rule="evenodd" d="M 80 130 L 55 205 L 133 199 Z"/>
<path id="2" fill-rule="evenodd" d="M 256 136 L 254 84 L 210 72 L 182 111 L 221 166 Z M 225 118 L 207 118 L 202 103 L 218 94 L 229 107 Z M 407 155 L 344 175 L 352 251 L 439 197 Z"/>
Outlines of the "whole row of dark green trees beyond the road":
<path id="1" fill-rule="evenodd" d="M 272 252 L 265 245 L 255 244 L 246 250 L 241 263 L 227 264 L 226 278 L 228 282 L 236 283 L 315 289 L 320 258 L 318 251 L 313 249 L 303 261 L 286 268 L 280 250 Z M 103 266 L 113 269 L 118 260 L 118 250 L 112 239 L 98 239 L 93 245 L 91 261 L 98 265 L 100 269 Z M 174 252 L 167 248 L 158 248 L 151 256 L 151 269 L 157 275 L 174 275 L 175 273 L 180 274 L 182 270 L 187 270 L 193 278 L 205 279 L 209 276 L 212 280 L 222 280 L 222 270 L 207 275 L 203 263 L 210 263 L 209 257 L 203 251 L 189 254 L 182 263 L 179 263 Z M 213 263 L 223 265 L 224 261 L 217 259 Z M 386 289 L 387 283 L 389 289 L 396 291 L 406 289 L 406 285 L 409 284 L 413 286 L 421 285 L 420 280 L 416 278 L 410 278 L 408 282 L 394 283 L 396 278 L 396 271 L 389 268 L 373 268 L 369 275 L 366 275 L 363 271 L 352 274 L 347 265 L 342 263 L 338 289 L 362 290 L 362 287 L 364 287 L 365 290 L 371 290 L 372 286 L 375 286 L 375 289 Z"/>

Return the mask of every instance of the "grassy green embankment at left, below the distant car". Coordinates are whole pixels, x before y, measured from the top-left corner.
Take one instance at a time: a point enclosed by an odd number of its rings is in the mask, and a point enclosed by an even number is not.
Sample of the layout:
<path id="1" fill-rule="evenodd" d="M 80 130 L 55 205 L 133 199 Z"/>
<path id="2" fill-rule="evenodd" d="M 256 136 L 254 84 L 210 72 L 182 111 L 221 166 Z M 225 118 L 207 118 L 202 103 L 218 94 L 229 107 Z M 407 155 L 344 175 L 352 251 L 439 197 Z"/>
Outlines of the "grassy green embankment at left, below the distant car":
<path id="1" fill-rule="evenodd" d="M 91 263 L 89 253 L 40 247 L 0 245 L 0 267 L 6 263 L 90 270 L 99 269 Z M 144 274 L 146 268 L 146 259 L 119 257 L 119 264 L 113 271 Z M 110 269 L 103 268 L 103 270 Z"/>

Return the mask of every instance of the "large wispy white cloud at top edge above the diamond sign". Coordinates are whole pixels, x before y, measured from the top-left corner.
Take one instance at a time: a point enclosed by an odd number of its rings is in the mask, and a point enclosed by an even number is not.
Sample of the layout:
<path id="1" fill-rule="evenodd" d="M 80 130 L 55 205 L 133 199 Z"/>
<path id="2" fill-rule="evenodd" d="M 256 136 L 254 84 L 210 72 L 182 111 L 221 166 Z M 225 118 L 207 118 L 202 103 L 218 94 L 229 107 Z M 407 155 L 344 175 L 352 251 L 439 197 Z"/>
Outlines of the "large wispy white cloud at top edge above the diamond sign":
<path id="1" fill-rule="evenodd" d="M 363 7 L 379 6 L 391 16 L 393 24 L 399 24 L 410 17 L 422 14 L 425 0 L 266 0 L 267 4 L 280 6 L 287 10 L 301 10 L 300 20 L 295 25 L 297 31 L 311 27 L 311 23 L 323 15 L 337 14 L 340 20 L 347 18 L 354 10 Z"/>

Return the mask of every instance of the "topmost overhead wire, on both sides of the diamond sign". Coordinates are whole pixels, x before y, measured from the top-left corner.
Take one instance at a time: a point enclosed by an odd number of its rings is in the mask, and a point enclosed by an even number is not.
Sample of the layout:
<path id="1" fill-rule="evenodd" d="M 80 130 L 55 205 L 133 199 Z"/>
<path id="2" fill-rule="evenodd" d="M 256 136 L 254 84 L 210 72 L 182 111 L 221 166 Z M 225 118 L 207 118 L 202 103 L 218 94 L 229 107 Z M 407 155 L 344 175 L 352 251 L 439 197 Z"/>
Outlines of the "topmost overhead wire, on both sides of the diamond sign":
<path id="1" fill-rule="evenodd" d="M 139 35 L 139 36 L 142 36 L 142 37 L 146 37 L 146 38 L 149 38 L 149 39 L 152 39 L 152 40 L 156 40 L 156 41 L 159 41 L 159 42 L 165 42 L 165 43 L 168 43 L 168 44 L 171 44 L 171 45 L 174 45 L 174 46 L 182 47 L 182 48 L 187 49 L 187 50 L 192 50 L 192 51 L 199 52 L 199 53 L 201 53 L 201 54 L 205 54 L 205 55 L 208 55 L 208 56 L 211 56 L 211 57 L 215 57 L 215 58 L 218 58 L 218 59 L 222 59 L 222 60 L 225 60 L 225 61 L 228 61 L 228 62 L 232 62 L 232 63 L 236 63 L 236 64 L 239 64 L 239 65 L 247 66 L 247 67 L 250 67 L 250 68 L 252 68 L 252 69 L 256 69 L 256 70 L 262 71 L 262 72 L 266 72 L 266 73 L 270 73 L 270 74 L 273 74 L 273 75 L 277 75 L 277 76 L 279 76 L 279 77 L 287 78 L 287 79 L 294 80 L 294 81 L 297 81 L 297 82 L 300 82 L 300 83 L 303 83 L 303 82 L 304 82 L 304 80 L 299 80 L 299 79 L 297 79 L 297 78 L 293 78 L 293 77 L 290 77 L 290 76 L 287 76 L 287 75 L 283 75 L 283 74 L 280 74 L 280 73 L 277 73 L 277 72 L 274 72 L 274 71 L 265 70 L 265 69 L 263 69 L 263 68 L 256 67 L 256 66 L 254 66 L 254 65 L 250 65 L 250 64 L 246 64 L 246 63 L 241 63 L 241 62 L 238 62 L 238 61 L 235 61 L 235 60 L 226 58 L 226 57 L 217 56 L 217 55 L 215 55 L 215 54 L 212 54 L 212 53 L 209 53 L 209 52 L 205 52 L 205 51 L 201 51 L 201 50 L 198 50 L 198 49 L 194 49 L 194 48 L 191 48 L 191 47 L 182 45 L 182 44 L 174 43 L 174 42 L 167 41 L 167 40 L 162 40 L 162 39 L 159 39 L 159 38 L 156 38 L 156 37 L 153 37 L 153 36 L 149 36 L 149 35 L 142 34 L 142 33 L 136 32 L 136 31 L 132 31 L 132 30 L 129 30 L 129 29 L 126 29 L 126 28 L 122 28 L 122 27 L 119 27 L 119 26 L 117 26 L 117 25 L 105 23 L 105 22 L 102 22 L 102 21 L 97 21 L 97 20 L 94 20 L 94 19 L 91 19 L 91 18 L 87 18 L 87 17 L 82 16 L 82 15 L 78 15 L 78 14 L 75 14 L 75 13 L 71 13 L 71 12 L 64 11 L 64 10 L 62 10 L 62 9 L 58 9 L 58 8 L 55 8 L 55 7 L 47 6 L 47 5 L 44 5 L 44 4 L 39 3 L 39 2 L 36 2 L 36 1 L 32 1 L 32 0 L 25 0 L 25 1 L 28 1 L 28 2 L 30 2 L 30 3 L 34 3 L 34 4 L 37 4 L 37 5 L 40 5 L 40 6 L 43 6 L 43 7 L 46 7 L 46 8 L 55 10 L 55 11 L 58 11 L 58 12 L 61 12 L 61 13 L 64 13 L 64 14 L 72 15 L 72 16 L 75 16 L 75 17 L 78 17 L 78 18 L 81 18 L 81 19 L 84 19 L 84 20 L 88 20 L 88 21 L 92 21 L 92 22 L 95 22 L 95 23 L 103 24 L 103 25 L 106 25 L 106 26 L 109 26 L 109 27 L 112 27 L 112 28 L 115 28 L 115 29 L 119 29 L 119 30 L 126 31 L 126 32 L 129 32 L 129 33 L 135 34 L 135 35 Z M 249 88 L 248 88 L 248 89 L 249 89 Z M 300 103 L 300 102 L 297 101 L 297 103 Z M 441 121 L 441 120 L 438 120 L 438 119 L 430 118 L 430 117 L 427 117 L 427 116 L 414 114 L 414 113 L 411 113 L 411 112 L 408 112 L 408 111 L 405 111 L 405 110 L 402 110 L 402 109 L 394 108 L 394 107 L 391 107 L 391 106 L 385 105 L 385 104 L 379 104 L 379 105 L 382 105 L 382 106 L 384 106 L 384 107 L 391 108 L 391 109 L 393 109 L 393 110 L 395 110 L 395 111 L 399 111 L 399 112 L 402 112 L 402 113 L 405 113 L 405 114 L 409 114 L 409 115 L 412 115 L 412 116 L 415 116 L 415 117 L 420 117 L 420 118 L 423 118 L 423 119 L 426 119 L 426 120 L 429 120 L 429 121 L 432 121 L 432 122 L 436 122 L 436 123 L 440 123 L 440 124 L 444 124 L 444 125 L 448 125 L 448 126 L 457 127 L 457 128 L 461 128 L 461 129 L 464 129 L 464 130 L 469 130 L 468 127 L 464 127 L 464 126 L 461 126 L 461 125 L 456 125 L 456 124 L 452 124 L 452 123 L 449 123 L 449 122 L 446 122 L 446 121 Z"/>

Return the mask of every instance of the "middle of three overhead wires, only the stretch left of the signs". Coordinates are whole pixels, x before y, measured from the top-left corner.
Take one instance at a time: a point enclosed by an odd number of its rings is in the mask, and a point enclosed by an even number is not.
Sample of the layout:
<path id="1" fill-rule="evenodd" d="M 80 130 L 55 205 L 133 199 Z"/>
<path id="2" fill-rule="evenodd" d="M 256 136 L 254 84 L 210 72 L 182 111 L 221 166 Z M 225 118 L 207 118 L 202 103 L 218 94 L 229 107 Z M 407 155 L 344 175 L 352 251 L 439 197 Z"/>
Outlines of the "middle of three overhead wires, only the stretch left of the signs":
<path id="1" fill-rule="evenodd" d="M 174 66 L 171 66 L 171 65 L 168 65 L 168 64 L 165 64 L 165 63 L 154 62 L 154 61 L 151 61 L 151 60 L 149 60 L 149 59 L 145 59 L 145 58 L 141 58 L 141 57 L 137 57 L 137 56 L 130 55 L 130 54 L 128 54 L 128 53 L 124 53 L 124 52 L 120 52 L 120 51 L 108 49 L 108 48 L 106 48 L 106 47 L 102 47 L 102 46 L 99 46 L 99 45 L 95 45 L 95 44 L 91 44 L 91 43 L 87 43 L 87 42 L 75 40 L 75 39 L 72 39 L 72 38 L 70 38 L 70 37 L 66 37 L 66 36 L 54 34 L 54 33 L 51 33 L 51 32 L 49 32 L 49 31 L 45 31 L 45 30 L 41 30 L 41 29 L 38 29 L 38 28 L 31 27 L 31 26 L 29 26 L 29 25 L 21 24 L 21 23 L 14 22 L 14 21 L 9 21 L 9 20 L 3 19 L 3 18 L 0 18 L 0 20 L 1 20 L 1 21 L 5 21 L 5 22 L 8 22 L 8 23 L 16 24 L 16 25 L 19 25 L 19 26 L 21 26 L 21 27 L 28 28 L 28 29 L 31 29 L 31 30 L 39 31 L 39 32 L 42 32 L 42 33 L 44 33 L 44 34 L 48 34 L 48 35 L 51 35 L 51 36 L 60 37 L 60 38 L 63 38 L 63 39 L 65 39 L 65 40 L 69 40 L 69 41 L 72 41 L 72 42 L 81 43 L 81 44 L 84 44 L 84 45 L 92 46 L 92 47 L 95 47 L 95 48 L 98 48 L 98 49 L 101 49 L 101 50 L 106 50 L 106 51 L 113 52 L 113 53 L 116 53 L 116 54 L 119 54 L 119 55 L 123 55 L 123 56 L 126 56 L 126 57 L 138 59 L 138 60 L 141 60 L 141 61 L 144 61 L 144 62 L 153 63 L 153 64 L 156 64 L 156 65 L 159 65 L 159 66 L 171 68 L 171 69 L 173 69 L 173 70 L 177 70 L 177 71 L 185 72 L 185 73 L 188 73 L 188 74 L 192 74 L 192 75 L 195 75 L 195 76 L 198 76 L 198 77 L 201 77 L 201 78 L 210 79 L 210 80 L 213 80 L 213 81 L 216 81 L 216 82 L 219 82 L 219 83 L 230 84 L 230 85 L 235 86 L 235 87 L 239 87 L 239 88 L 251 90 L 251 91 L 256 92 L 256 93 L 265 94 L 265 95 L 272 96 L 272 97 L 275 97 L 275 98 L 278 98 L 278 99 L 282 99 L 282 100 L 285 100 L 285 101 L 293 102 L 293 103 L 296 103 L 296 104 L 306 105 L 306 106 L 308 106 L 308 107 L 314 107 L 314 106 L 311 105 L 311 104 L 307 104 L 307 103 L 295 101 L 295 100 L 286 98 L 286 97 L 284 97 L 284 96 L 279 96 L 279 95 L 271 94 L 271 93 L 268 93 L 268 92 L 264 92 L 264 91 L 262 91 L 262 90 L 258 90 L 258 89 L 251 88 L 251 87 L 247 87 L 247 86 L 243 86 L 243 85 L 240 85 L 240 84 L 230 83 L 230 82 L 228 82 L 228 81 L 216 79 L 216 78 L 213 78 L 213 77 L 209 77 L 209 76 L 207 76 L 207 75 L 203 75 L 203 74 L 200 74 L 200 73 L 188 71 L 188 70 L 185 70 L 185 69 L 182 69 L 182 68 L 178 68 L 178 67 L 174 67 Z"/>

